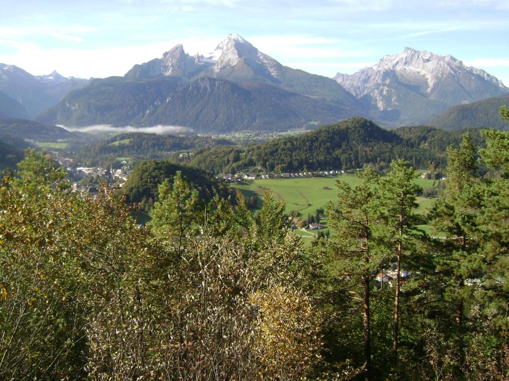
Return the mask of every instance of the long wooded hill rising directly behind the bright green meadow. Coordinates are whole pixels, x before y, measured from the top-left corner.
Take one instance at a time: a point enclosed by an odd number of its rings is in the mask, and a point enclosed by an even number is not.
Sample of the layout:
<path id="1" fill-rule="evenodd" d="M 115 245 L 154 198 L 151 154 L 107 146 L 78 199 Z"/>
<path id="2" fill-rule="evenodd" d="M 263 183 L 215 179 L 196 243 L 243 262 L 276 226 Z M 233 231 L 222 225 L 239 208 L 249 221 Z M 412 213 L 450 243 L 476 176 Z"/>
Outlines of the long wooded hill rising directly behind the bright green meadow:
<path id="1" fill-rule="evenodd" d="M 483 139 L 472 132 L 476 142 Z M 445 165 L 445 149 L 457 145 L 461 133 L 426 126 L 387 131 L 364 118 L 351 118 L 308 133 L 243 147 L 214 147 L 196 152 L 190 162 L 214 173 L 235 173 L 249 168 L 262 171 L 302 171 L 360 168 L 373 164 L 387 168 L 394 157 L 416 168 L 434 162 Z"/>

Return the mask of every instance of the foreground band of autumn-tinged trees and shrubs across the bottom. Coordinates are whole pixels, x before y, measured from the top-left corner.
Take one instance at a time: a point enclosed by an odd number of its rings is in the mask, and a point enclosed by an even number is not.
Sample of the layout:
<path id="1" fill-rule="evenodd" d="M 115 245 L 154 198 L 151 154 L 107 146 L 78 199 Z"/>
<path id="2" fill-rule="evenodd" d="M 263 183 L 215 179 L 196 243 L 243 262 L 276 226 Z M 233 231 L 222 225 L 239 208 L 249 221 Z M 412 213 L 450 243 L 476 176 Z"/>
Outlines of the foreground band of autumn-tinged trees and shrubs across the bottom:
<path id="1" fill-rule="evenodd" d="M 270 193 L 253 214 L 176 171 L 138 227 L 28 151 L 0 186 L 0 379 L 506 380 L 509 133 L 482 135 L 447 148 L 431 235 L 392 160 L 337 181 L 309 248 Z"/>

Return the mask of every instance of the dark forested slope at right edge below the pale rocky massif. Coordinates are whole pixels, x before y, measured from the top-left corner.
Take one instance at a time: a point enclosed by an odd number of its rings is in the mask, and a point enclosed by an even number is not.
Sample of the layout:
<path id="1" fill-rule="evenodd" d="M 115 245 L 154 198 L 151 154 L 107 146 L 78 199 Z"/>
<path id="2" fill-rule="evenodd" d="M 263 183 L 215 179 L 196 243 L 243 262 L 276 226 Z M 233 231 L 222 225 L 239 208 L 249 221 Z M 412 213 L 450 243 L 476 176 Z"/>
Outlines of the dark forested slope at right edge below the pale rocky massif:
<path id="1" fill-rule="evenodd" d="M 444 130 L 463 130 L 468 128 L 494 128 L 509 130 L 509 123 L 500 119 L 500 106 L 509 105 L 509 96 L 488 98 L 466 105 L 454 106 L 429 121 Z"/>

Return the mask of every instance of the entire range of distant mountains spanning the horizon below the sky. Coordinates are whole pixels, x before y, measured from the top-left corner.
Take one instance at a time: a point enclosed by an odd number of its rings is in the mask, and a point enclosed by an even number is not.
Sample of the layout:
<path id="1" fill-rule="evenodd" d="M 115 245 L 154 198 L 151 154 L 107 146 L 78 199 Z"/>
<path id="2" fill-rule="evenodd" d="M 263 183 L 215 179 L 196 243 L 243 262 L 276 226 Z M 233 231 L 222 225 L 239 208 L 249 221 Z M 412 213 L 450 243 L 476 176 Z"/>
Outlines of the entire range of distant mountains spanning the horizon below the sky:
<path id="1" fill-rule="evenodd" d="M 9 78 L 10 92 L 2 72 Z M 22 98 L 20 78 L 45 90 L 26 92 Z M 53 98 L 46 95 L 44 106 L 37 103 L 39 111 L 46 108 L 37 120 L 70 126 L 166 124 L 201 133 L 284 131 L 364 116 L 390 128 L 427 123 L 451 106 L 509 94 L 495 77 L 450 55 L 406 48 L 372 67 L 332 79 L 283 66 L 238 35 L 228 35 L 208 54 L 189 55 L 179 44 L 160 58 L 134 65 L 123 77 L 83 81 L 55 72 L 34 77 L 0 66 L 0 90 L 30 116 L 35 111 L 29 107 L 34 97 L 29 96 L 52 89 Z"/>

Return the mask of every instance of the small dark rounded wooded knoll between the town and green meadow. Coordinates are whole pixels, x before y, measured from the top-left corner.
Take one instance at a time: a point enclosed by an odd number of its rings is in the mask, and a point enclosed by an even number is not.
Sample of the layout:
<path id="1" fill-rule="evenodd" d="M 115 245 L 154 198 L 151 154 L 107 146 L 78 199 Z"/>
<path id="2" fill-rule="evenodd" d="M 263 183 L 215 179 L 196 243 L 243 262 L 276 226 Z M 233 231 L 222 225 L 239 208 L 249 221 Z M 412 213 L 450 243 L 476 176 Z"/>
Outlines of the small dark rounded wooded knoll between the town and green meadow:
<path id="1" fill-rule="evenodd" d="M 200 197 L 206 201 L 216 194 L 224 198 L 230 194 L 226 185 L 201 169 L 155 160 L 138 163 L 124 183 L 121 192 L 125 195 L 128 203 L 157 201 L 157 186 L 164 179 L 175 176 L 177 171 L 180 171 L 182 176 L 193 184 Z"/>

